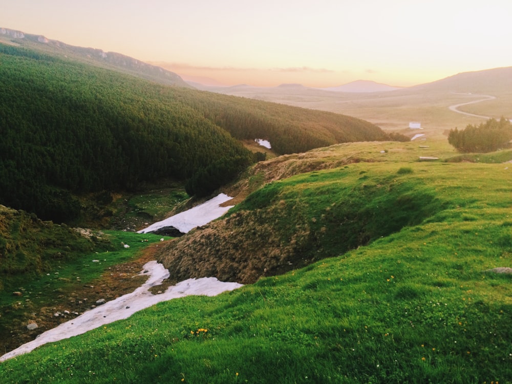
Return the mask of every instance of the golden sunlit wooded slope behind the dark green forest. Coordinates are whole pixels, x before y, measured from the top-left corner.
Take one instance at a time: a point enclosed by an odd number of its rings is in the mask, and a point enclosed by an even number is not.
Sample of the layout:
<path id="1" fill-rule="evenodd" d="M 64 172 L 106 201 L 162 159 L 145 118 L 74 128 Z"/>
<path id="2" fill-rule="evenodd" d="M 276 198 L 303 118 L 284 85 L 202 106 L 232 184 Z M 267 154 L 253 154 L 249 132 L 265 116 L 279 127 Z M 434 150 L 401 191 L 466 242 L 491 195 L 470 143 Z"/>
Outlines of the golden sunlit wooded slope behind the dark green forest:
<path id="1" fill-rule="evenodd" d="M 210 92 L 181 90 L 179 97 L 238 139 L 269 140 L 279 155 L 344 142 L 409 140 L 390 137 L 368 121 L 331 112 Z"/>

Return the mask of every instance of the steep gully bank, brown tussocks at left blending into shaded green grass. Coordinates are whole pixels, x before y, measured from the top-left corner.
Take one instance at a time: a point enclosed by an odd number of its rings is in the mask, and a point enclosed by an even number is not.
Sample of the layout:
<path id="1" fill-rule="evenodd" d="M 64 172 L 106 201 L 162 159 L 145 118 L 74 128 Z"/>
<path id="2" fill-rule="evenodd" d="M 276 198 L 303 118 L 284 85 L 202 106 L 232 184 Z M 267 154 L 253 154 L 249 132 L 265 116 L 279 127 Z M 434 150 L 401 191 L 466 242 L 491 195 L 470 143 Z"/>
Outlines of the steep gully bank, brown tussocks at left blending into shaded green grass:
<path id="1" fill-rule="evenodd" d="M 267 184 L 227 218 L 162 248 L 159 258 L 180 280 L 214 275 L 248 284 L 367 245 L 456 204 L 409 174 L 429 172 L 423 165 L 391 169 L 360 163 Z"/>

